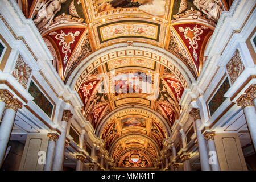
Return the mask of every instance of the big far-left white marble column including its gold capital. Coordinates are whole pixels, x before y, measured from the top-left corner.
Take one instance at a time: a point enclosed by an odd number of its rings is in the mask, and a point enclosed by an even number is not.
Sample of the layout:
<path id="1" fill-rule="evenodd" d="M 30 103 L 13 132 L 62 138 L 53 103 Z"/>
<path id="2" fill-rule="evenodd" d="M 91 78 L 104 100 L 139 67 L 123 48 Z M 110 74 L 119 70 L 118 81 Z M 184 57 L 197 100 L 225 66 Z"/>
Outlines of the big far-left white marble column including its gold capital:
<path id="1" fill-rule="evenodd" d="M 14 119 L 18 109 L 22 108 L 22 103 L 16 99 L 11 99 L 5 105 L 5 113 L 0 125 L 0 168 L 5 157 L 5 151 L 13 130 Z"/>

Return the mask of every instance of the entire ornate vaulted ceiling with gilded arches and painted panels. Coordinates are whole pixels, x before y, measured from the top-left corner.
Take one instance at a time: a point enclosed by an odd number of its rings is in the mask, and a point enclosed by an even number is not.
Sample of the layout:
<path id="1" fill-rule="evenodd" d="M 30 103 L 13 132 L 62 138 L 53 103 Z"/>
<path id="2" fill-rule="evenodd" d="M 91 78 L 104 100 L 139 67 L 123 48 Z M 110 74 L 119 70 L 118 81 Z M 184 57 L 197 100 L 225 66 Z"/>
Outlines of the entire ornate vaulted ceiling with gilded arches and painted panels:
<path id="1" fill-rule="evenodd" d="M 24 7 L 117 166 L 152 167 L 226 2 L 28 0 Z"/>

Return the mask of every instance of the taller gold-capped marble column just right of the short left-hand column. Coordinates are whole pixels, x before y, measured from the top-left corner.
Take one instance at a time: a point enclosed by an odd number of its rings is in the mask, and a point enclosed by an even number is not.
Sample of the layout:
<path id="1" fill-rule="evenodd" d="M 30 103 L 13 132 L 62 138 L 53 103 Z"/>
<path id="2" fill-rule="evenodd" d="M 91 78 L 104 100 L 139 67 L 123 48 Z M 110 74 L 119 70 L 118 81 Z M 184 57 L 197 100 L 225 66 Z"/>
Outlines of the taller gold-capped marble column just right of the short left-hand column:
<path id="1" fill-rule="evenodd" d="M 63 168 L 67 126 L 68 126 L 68 121 L 72 117 L 72 115 L 73 114 L 69 110 L 63 111 L 61 123 L 64 130 L 61 132 L 61 135 L 59 136 L 59 139 L 56 142 L 55 155 L 54 155 L 53 164 L 52 164 L 53 171 L 61 171 Z"/>

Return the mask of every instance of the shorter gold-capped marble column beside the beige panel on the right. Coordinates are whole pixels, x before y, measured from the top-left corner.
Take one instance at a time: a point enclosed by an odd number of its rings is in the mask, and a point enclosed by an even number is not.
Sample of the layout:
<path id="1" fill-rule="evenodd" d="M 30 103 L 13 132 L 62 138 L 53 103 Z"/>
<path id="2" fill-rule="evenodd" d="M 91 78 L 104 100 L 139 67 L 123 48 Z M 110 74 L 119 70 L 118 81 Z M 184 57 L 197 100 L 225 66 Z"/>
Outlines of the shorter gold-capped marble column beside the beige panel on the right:
<path id="1" fill-rule="evenodd" d="M 218 163 L 218 155 L 214 143 L 215 131 L 207 131 L 204 133 L 204 138 L 207 140 L 209 155 L 213 161 L 210 163 L 212 171 L 220 171 L 220 164 Z M 209 159 L 210 160 L 210 159 Z"/>

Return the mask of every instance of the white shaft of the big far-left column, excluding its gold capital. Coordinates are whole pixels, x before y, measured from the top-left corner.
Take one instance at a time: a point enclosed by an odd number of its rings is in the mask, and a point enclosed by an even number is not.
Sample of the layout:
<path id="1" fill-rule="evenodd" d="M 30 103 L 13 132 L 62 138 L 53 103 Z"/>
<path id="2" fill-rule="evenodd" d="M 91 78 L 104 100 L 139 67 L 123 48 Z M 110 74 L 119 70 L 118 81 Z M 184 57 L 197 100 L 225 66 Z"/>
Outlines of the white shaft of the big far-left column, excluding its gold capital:
<path id="1" fill-rule="evenodd" d="M 5 157 L 5 151 L 10 139 L 11 130 L 13 130 L 15 116 L 15 110 L 6 109 L 0 125 L 0 168 L 2 167 L 3 159 Z"/>

